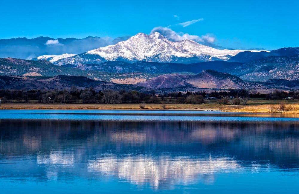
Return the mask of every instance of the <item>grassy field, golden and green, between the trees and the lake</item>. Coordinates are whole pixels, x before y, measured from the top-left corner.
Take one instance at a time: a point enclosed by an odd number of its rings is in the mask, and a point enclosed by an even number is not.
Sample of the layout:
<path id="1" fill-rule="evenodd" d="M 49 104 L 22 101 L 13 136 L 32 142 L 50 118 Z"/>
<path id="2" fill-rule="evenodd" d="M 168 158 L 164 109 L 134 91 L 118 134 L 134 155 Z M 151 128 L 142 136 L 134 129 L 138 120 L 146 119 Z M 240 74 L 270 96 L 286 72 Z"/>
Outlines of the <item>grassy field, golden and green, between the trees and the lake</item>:
<path id="1" fill-rule="evenodd" d="M 205 104 L 145 104 L 141 109 L 139 104 L 39 104 L 39 103 L 2 103 L 0 109 L 53 109 L 53 110 L 221 110 L 222 112 L 245 113 L 294 113 L 299 114 L 298 100 L 265 100 L 251 99 L 244 105 L 220 105 L 217 100 L 208 100 Z M 282 103 L 283 102 L 283 103 Z"/>

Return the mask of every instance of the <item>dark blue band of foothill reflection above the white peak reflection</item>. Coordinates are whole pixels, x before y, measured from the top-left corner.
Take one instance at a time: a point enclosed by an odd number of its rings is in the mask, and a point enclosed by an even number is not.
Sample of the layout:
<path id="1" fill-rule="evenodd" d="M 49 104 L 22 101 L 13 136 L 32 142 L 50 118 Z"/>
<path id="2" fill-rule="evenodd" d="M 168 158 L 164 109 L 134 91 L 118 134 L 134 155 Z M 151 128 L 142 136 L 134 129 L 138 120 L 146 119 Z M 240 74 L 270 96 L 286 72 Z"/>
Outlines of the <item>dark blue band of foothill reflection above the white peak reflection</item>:
<path id="1" fill-rule="evenodd" d="M 240 164 L 299 164 L 299 124 L 290 122 L 0 122 L 0 153 L 4 155 L 36 155 L 55 148 L 62 153 L 72 151 L 75 161 L 86 162 L 96 153 L 168 153 L 179 157 L 221 152 Z"/>

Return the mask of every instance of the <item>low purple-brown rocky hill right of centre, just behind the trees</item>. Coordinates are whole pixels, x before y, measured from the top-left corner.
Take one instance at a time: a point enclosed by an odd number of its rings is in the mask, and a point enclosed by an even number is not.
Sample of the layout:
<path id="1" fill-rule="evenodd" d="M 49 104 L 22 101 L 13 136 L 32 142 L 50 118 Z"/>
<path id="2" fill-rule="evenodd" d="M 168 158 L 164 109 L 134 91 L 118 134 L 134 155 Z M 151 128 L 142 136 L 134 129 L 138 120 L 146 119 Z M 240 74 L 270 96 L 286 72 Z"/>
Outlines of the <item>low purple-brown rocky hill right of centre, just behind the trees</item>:
<path id="1" fill-rule="evenodd" d="M 164 92 L 184 90 L 199 91 L 207 89 L 247 89 L 268 93 L 275 89 L 299 89 L 299 81 L 288 81 L 284 79 L 273 79 L 266 82 L 243 81 L 237 76 L 214 70 L 203 70 L 197 75 L 165 74 L 136 85 L 143 86 L 144 90 L 155 89 Z"/>

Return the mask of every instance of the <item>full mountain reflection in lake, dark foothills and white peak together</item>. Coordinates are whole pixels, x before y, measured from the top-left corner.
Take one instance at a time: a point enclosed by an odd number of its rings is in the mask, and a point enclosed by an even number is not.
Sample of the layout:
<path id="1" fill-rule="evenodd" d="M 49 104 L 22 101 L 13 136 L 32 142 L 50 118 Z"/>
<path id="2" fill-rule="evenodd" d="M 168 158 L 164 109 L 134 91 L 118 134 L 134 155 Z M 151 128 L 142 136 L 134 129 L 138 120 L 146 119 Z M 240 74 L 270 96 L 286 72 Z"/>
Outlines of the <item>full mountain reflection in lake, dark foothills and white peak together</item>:
<path id="1" fill-rule="evenodd" d="M 171 190 L 215 184 L 219 173 L 299 168 L 298 122 L 4 119 L 0 142 L 0 185 L 115 177 Z"/>

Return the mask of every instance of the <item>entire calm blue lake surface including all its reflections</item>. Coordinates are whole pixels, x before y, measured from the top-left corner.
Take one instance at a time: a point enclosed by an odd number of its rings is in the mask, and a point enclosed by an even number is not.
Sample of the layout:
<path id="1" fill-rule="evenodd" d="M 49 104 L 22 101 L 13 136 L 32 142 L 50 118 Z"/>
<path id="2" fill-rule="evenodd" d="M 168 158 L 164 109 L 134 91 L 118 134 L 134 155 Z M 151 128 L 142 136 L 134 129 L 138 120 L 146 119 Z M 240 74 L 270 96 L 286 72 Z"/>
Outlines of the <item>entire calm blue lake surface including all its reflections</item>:
<path id="1" fill-rule="evenodd" d="M 0 193 L 299 193 L 299 119 L 0 110 Z"/>

